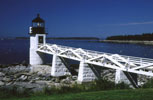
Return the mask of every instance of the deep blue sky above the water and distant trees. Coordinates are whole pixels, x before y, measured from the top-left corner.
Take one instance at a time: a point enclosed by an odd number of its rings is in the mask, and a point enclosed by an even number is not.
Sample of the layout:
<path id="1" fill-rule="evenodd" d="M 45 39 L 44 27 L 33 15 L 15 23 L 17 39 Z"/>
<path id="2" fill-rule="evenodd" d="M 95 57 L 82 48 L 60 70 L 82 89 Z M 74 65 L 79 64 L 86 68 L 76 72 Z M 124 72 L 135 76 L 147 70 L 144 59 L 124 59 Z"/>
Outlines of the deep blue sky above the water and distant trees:
<path id="1" fill-rule="evenodd" d="M 48 37 L 153 33 L 153 0 L 0 0 L 0 37 L 28 37 L 37 13 Z"/>

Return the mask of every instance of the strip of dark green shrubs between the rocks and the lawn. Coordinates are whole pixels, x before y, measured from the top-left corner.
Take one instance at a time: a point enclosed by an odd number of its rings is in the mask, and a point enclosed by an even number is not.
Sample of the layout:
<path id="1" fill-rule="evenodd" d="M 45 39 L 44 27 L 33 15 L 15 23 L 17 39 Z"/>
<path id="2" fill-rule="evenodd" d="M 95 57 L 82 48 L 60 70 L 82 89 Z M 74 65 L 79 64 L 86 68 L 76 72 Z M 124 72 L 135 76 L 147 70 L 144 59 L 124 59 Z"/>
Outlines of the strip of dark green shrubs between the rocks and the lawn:
<path id="1" fill-rule="evenodd" d="M 152 81 L 153 82 L 153 81 Z M 17 91 L 17 87 L 0 90 L 0 97 L 29 97 L 35 95 L 53 95 L 53 94 L 64 94 L 64 93 L 78 93 L 78 92 L 89 92 L 89 91 L 101 91 L 101 90 L 113 90 L 113 89 L 128 89 L 129 86 L 124 83 L 116 84 L 106 79 L 95 80 L 90 83 L 73 84 L 70 86 L 60 86 L 51 88 L 45 87 L 42 92 L 32 93 L 28 89 L 24 89 L 22 92 Z"/>

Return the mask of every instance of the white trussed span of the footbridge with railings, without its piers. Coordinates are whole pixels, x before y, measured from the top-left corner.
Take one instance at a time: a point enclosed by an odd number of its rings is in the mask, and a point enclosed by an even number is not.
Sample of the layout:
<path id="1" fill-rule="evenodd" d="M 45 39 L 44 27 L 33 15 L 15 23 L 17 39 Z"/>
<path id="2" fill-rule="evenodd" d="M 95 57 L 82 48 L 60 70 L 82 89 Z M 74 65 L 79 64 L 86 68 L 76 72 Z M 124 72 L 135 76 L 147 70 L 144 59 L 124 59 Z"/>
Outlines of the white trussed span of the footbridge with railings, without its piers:
<path id="1" fill-rule="evenodd" d="M 149 58 L 111 54 L 56 44 L 39 44 L 37 51 L 52 55 L 56 54 L 57 56 L 83 61 L 92 65 L 153 76 L 153 59 Z"/>

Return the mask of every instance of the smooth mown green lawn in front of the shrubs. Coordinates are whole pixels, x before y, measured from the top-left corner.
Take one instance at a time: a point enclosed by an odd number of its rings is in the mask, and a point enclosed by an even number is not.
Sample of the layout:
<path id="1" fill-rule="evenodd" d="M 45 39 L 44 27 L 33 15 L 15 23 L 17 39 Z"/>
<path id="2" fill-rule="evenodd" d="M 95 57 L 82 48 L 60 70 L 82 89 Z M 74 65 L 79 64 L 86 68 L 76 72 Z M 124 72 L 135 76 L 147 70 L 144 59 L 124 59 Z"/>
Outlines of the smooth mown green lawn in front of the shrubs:
<path id="1" fill-rule="evenodd" d="M 107 90 L 54 95 L 43 94 L 39 96 L 13 97 L 0 100 L 153 100 L 153 89 Z"/>

